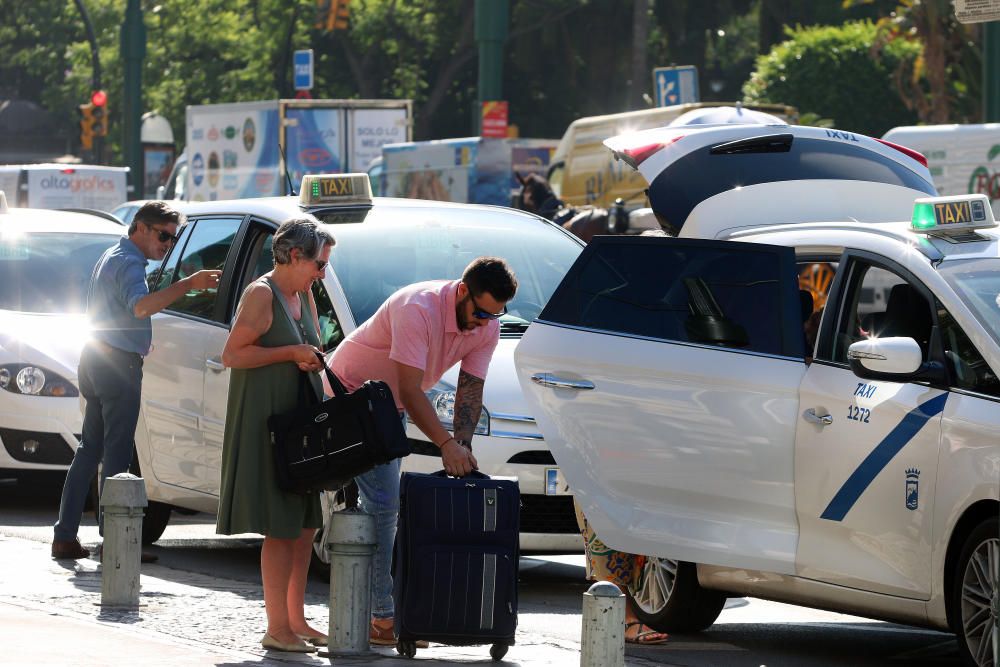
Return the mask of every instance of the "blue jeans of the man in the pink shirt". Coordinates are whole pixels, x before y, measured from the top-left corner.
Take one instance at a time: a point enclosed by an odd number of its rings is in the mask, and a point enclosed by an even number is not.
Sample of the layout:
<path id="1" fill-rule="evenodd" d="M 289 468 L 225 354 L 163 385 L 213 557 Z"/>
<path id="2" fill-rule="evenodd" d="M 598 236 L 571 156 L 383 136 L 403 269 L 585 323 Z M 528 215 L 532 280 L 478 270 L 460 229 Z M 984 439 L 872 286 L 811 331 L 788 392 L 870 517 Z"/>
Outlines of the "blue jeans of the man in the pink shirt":
<path id="1" fill-rule="evenodd" d="M 405 424 L 405 422 L 404 422 Z M 401 459 L 375 466 L 354 478 L 359 506 L 375 517 L 375 563 L 372 577 L 372 616 L 392 618 L 392 545 L 399 517 Z"/>

